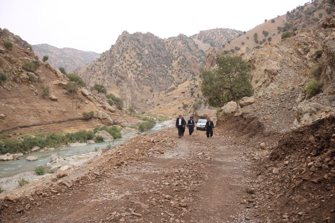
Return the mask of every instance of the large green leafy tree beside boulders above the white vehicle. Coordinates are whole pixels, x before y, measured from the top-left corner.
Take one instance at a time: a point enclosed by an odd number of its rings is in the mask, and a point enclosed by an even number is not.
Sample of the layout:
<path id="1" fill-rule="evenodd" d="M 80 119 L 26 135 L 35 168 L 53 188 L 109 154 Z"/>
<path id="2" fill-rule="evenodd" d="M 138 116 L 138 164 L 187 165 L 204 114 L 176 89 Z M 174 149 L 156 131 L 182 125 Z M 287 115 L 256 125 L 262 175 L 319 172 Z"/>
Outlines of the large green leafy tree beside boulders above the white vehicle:
<path id="1" fill-rule="evenodd" d="M 210 70 L 201 70 L 201 92 L 208 99 L 207 103 L 214 107 L 221 107 L 233 99 L 238 109 L 239 100 L 251 96 L 254 89 L 250 79 L 251 68 L 241 56 L 216 56 L 218 67 Z"/>

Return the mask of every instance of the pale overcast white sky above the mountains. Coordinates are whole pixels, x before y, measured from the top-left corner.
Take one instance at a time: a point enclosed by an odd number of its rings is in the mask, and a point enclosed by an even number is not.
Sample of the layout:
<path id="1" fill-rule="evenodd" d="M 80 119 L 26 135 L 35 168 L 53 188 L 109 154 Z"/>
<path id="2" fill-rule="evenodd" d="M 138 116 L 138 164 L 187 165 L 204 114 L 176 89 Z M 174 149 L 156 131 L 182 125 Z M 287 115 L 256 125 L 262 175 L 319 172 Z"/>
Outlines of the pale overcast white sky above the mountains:
<path id="1" fill-rule="evenodd" d="M 0 0 L 0 27 L 29 44 L 102 53 L 123 30 L 160 38 L 211 28 L 248 31 L 307 0 Z"/>

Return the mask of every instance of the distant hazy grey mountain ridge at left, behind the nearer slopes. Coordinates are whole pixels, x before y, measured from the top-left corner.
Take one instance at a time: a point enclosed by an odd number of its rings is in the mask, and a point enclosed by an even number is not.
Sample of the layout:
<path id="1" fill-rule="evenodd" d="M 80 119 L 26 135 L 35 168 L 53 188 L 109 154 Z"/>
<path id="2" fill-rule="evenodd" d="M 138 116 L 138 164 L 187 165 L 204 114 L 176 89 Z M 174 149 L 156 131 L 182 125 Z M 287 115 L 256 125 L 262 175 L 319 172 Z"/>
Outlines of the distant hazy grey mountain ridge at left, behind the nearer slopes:
<path id="1" fill-rule="evenodd" d="M 64 67 L 67 72 L 84 66 L 100 56 L 100 54 L 91 51 L 57 48 L 49 44 L 32 45 L 32 50 L 40 59 L 43 56 L 48 56 L 48 63 L 54 68 Z"/>

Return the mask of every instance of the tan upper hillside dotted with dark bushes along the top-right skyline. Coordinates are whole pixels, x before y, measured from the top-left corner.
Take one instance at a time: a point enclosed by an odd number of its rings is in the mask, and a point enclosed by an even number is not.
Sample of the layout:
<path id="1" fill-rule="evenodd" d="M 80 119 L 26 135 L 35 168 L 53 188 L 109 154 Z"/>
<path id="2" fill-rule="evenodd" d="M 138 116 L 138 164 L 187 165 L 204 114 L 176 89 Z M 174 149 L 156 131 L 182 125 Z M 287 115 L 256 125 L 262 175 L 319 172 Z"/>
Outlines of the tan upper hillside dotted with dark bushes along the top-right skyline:
<path id="1" fill-rule="evenodd" d="M 216 54 L 244 54 L 247 50 L 263 47 L 265 43 L 277 43 L 281 41 L 281 35 L 286 32 L 301 30 L 308 25 L 324 19 L 335 11 L 335 6 L 327 0 L 316 0 L 304 6 L 298 6 L 286 14 L 268 19 L 264 23 L 246 32 L 246 34 L 232 40 L 224 47 L 210 48 L 206 54 L 206 68 L 215 65 L 213 55 Z M 255 34 L 256 33 L 256 34 Z M 256 35 L 256 36 L 255 36 Z"/>

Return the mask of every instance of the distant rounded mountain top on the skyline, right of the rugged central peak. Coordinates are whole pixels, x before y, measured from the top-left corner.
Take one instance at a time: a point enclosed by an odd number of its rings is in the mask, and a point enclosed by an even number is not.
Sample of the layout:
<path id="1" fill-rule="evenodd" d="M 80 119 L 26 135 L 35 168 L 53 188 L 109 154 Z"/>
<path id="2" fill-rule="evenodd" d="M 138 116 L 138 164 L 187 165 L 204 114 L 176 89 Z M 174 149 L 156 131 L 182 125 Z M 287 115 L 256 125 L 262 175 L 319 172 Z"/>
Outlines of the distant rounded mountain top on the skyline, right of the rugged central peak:
<path id="1" fill-rule="evenodd" d="M 221 47 L 223 44 L 226 44 L 228 41 L 231 41 L 242 34 L 243 32 L 240 30 L 215 28 L 202 30 L 190 37 L 196 44 L 198 44 L 199 49 L 206 51 L 209 47 Z"/>

